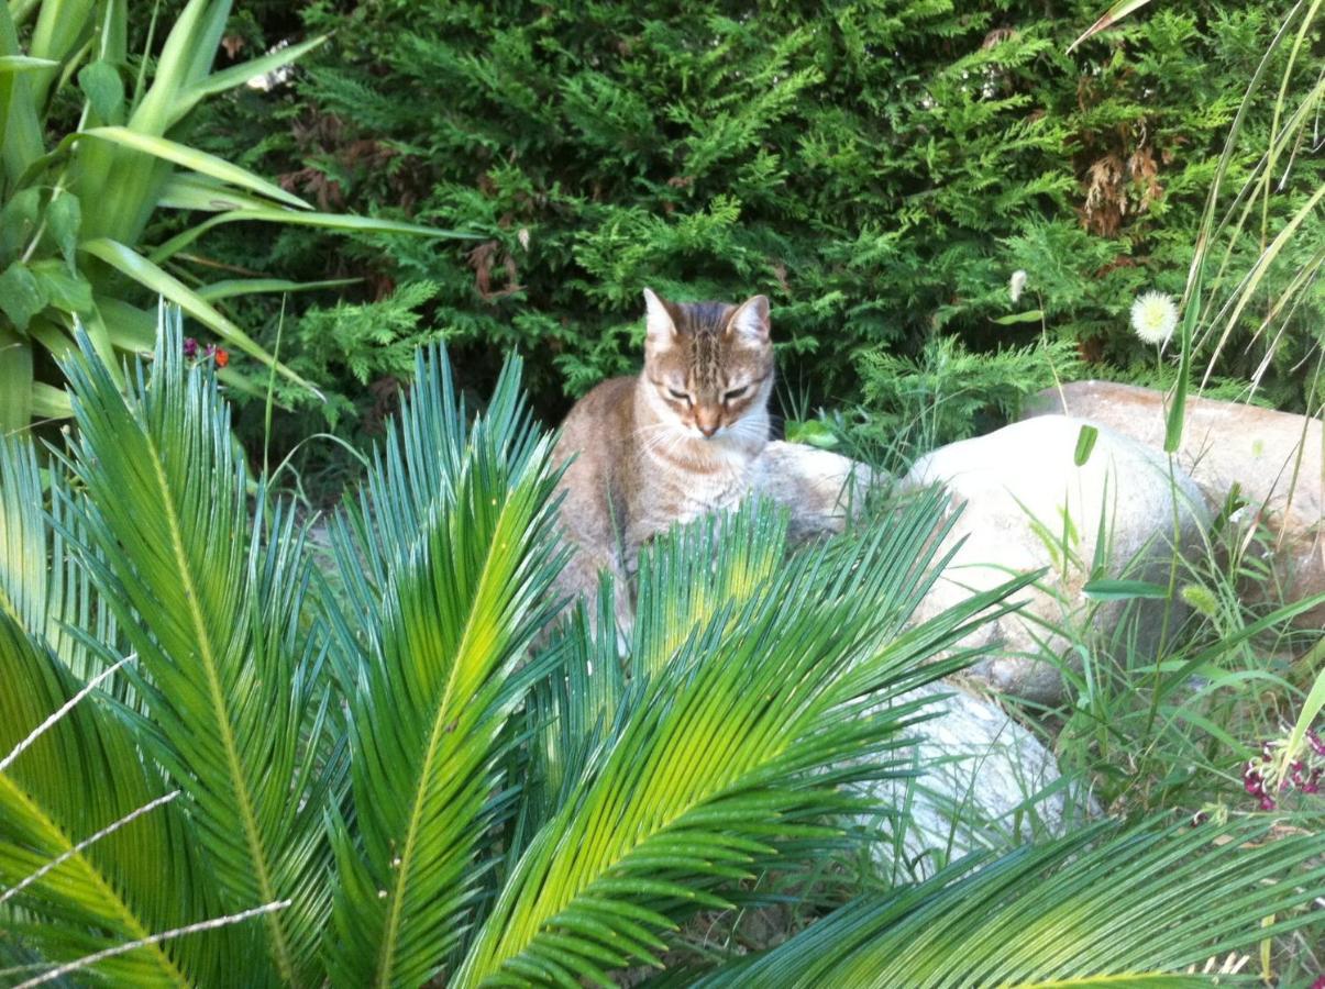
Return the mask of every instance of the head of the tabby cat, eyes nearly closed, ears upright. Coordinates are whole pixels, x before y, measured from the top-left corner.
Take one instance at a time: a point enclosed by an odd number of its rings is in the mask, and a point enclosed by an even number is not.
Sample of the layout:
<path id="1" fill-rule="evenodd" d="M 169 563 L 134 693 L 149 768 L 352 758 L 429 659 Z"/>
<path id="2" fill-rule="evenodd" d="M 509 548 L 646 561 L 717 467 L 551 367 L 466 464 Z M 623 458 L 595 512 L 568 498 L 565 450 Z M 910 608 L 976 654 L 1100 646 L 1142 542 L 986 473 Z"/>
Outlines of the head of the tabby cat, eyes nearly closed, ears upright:
<path id="1" fill-rule="evenodd" d="M 758 449 L 768 436 L 768 299 L 666 302 L 644 290 L 651 405 L 697 440 Z"/>

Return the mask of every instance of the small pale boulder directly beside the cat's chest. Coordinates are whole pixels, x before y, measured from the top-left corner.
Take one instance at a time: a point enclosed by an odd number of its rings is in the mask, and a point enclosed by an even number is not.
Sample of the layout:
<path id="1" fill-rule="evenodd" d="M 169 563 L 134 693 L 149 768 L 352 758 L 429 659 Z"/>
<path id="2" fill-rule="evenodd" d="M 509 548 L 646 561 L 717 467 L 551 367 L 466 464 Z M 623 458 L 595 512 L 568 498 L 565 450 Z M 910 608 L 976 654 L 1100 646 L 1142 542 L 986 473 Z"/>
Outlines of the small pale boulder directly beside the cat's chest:
<path id="1" fill-rule="evenodd" d="M 864 504 L 873 474 L 864 463 L 803 444 L 770 441 L 754 462 L 751 490 L 787 506 L 787 536 L 802 543 L 841 532 Z"/>

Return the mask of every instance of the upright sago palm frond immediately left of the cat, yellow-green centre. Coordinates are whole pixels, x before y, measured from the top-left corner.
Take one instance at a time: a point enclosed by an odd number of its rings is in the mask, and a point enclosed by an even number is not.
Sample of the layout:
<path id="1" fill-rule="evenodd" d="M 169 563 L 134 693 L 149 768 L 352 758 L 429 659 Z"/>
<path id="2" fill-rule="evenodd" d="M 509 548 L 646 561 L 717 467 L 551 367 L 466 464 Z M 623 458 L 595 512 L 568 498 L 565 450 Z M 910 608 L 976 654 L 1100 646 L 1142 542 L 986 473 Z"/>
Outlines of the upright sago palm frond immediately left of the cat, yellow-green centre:
<path id="1" fill-rule="evenodd" d="M 432 351 L 338 530 L 358 830 L 337 842 L 343 985 L 417 985 L 468 923 L 509 785 L 507 681 L 551 613 L 550 449 L 518 400 L 518 364 L 470 429 Z"/>

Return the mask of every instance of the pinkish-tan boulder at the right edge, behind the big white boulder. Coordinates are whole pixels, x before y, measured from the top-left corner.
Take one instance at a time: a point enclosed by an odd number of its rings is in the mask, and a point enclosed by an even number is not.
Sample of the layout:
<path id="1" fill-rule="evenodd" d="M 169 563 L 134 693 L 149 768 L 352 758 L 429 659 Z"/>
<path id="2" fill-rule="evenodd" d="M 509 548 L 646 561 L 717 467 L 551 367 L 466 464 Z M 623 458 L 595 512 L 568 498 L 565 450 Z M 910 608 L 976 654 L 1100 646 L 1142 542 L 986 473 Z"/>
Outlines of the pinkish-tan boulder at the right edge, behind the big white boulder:
<path id="1" fill-rule="evenodd" d="M 1162 450 L 1163 395 L 1109 381 L 1075 381 L 1035 396 L 1028 416 L 1068 413 L 1109 426 Z M 1325 469 L 1321 421 L 1214 399 L 1189 399 L 1178 465 L 1191 475 L 1211 511 L 1238 485 L 1251 503 L 1244 518 L 1268 526 L 1271 559 L 1284 600 L 1325 592 Z M 1298 618 L 1325 625 L 1325 605 Z"/>

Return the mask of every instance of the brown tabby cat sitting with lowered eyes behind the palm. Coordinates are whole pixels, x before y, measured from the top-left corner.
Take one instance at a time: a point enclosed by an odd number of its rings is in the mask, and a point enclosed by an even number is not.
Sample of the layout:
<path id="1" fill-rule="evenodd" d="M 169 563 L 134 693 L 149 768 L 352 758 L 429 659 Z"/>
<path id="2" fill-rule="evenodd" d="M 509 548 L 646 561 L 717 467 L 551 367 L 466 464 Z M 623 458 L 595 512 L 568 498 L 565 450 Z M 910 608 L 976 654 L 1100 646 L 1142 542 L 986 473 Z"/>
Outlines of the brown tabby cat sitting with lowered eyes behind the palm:
<path id="1" fill-rule="evenodd" d="M 623 633 L 640 545 L 741 499 L 768 438 L 772 392 L 767 298 L 666 302 L 645 289 L 644 302 L 644 371 L 575 402 L 554 454 L 558 465 L 574 455 L 560 483 L 574 555 L 558 590 L 592 593 L 610 571 Z"/>

